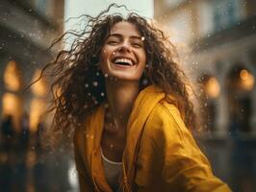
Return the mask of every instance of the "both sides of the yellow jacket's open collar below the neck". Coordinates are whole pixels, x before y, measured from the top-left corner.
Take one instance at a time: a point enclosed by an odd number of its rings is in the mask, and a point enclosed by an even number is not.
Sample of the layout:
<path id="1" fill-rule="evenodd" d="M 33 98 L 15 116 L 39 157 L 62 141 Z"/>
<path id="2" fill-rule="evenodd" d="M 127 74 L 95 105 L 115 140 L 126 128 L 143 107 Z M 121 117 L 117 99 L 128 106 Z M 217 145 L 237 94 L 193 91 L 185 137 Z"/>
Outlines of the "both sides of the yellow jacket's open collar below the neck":
<path id="1" fill-rule="evenodd" d="M 141 90 L 138 95 L 134 107 L 132 109 L 128 124 L 127 124 L 127 138 L 126 147 L 123 153 L 123 191 L 132 191 L 133 180 L 135 177 L 135 163 L 139 151 L 141 135 L 143 132 L 144 124 L 151 113 L 152 109 L 165 98 L 165 93 L 155 85 L 150 85 Z M 103 103 L 96 109 L 95 113 L 91 116 L 89 126 L 92 135 L 95 135 L 93 141 L 93 152 L 89 159 L 91 168 L 91 177 L 96 188 L 102 191 L 112 191 L 107 184 L 104 177 L 104 169 L 100 156 L 100 140 L 103 132 L 105 104 Z M 99 190 L 99 189 L 98 189 Z"/>

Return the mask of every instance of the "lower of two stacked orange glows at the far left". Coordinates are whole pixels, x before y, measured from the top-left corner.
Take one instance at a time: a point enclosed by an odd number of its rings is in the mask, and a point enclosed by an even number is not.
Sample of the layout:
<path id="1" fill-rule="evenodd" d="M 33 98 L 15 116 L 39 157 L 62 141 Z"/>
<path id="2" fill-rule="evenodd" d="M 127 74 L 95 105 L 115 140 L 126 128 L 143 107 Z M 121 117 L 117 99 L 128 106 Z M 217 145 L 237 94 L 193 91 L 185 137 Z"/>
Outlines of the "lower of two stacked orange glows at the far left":
<path id="1" fill-rule="evenodd" d="M 13 93 L 5 93 L 3 95 L 3 115 L 13 116 L 13 125 L 15 130 L 19 131 L 20 119 L 22 116 L 22 100 Z"/>

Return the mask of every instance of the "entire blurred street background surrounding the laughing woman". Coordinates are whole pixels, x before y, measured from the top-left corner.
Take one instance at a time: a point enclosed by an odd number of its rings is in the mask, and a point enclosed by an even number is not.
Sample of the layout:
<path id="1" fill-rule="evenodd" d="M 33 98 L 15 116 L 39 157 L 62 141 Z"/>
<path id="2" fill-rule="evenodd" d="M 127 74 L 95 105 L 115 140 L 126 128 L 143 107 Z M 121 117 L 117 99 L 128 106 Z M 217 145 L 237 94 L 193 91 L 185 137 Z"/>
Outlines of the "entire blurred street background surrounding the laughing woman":
<path id="1" fill-rule="evenodd" d="M 196 137 L 214 173 L 234 191 L 256 191 L 256 0 L 1 0 L 0 191 L 78 191 L 72 154 L 38 142 L 50 80 L 23 90 L 64 47 L 47 50 L 51 42 L 77 27 L 67 18 L 113 2 L 166 31 L 200 84 Z"/>

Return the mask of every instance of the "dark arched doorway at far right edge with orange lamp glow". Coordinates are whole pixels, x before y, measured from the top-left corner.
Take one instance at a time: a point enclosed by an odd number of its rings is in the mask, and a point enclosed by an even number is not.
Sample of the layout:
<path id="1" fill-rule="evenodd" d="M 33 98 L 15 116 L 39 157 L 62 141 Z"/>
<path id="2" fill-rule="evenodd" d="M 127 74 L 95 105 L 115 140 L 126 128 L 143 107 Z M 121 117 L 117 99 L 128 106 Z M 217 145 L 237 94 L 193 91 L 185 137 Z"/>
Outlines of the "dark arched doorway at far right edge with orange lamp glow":
<path id="1" fill-rule="evenodd" d="M 230 132 L 250 132 L 254 76 L 243 65 L 235 65 L 227 75 Z"/>

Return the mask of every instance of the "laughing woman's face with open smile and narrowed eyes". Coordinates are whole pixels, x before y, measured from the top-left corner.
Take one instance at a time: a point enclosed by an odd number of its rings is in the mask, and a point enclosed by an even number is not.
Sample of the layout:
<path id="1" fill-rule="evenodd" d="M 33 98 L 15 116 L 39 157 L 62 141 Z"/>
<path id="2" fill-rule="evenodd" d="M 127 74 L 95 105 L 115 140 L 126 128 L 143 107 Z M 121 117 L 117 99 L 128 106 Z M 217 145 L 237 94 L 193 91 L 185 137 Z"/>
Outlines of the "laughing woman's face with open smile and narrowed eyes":
<path id="1" fill-rule="evenodd" d="M 140 81 L 146 56 L 141 35 L 132 23 L 116 23 L 101 50 L 103 74 L 124 81 Z"/>

